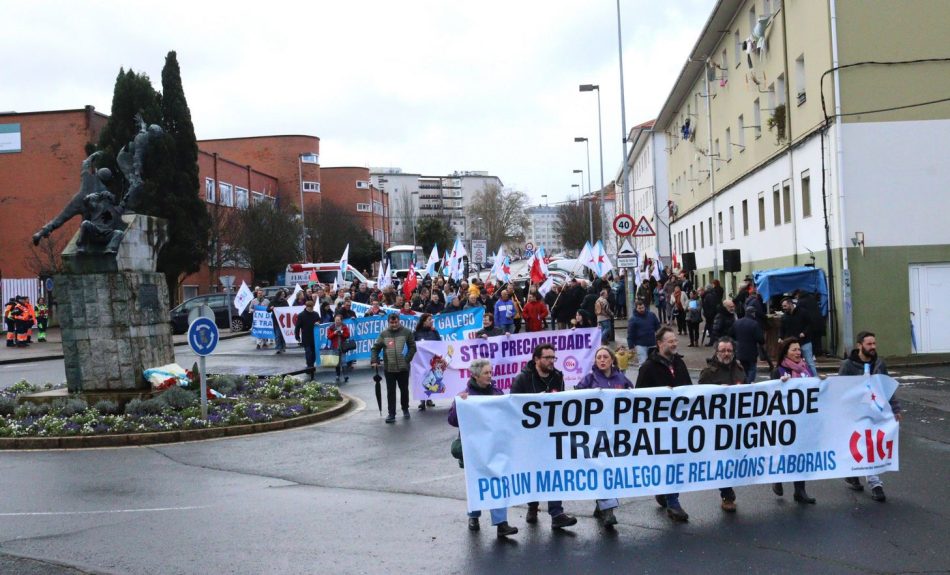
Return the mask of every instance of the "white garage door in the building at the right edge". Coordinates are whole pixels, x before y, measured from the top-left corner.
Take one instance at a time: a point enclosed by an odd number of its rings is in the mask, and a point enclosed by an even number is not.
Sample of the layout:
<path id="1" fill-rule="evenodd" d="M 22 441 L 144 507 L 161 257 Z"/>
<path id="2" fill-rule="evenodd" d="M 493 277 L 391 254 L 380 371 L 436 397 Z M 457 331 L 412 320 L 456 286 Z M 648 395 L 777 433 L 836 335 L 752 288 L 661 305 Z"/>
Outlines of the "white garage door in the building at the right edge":
<path id="1" fill-rule="evenodd" d="M 950 263 L 910 266 L 915 353 L 950 352 Z"/>

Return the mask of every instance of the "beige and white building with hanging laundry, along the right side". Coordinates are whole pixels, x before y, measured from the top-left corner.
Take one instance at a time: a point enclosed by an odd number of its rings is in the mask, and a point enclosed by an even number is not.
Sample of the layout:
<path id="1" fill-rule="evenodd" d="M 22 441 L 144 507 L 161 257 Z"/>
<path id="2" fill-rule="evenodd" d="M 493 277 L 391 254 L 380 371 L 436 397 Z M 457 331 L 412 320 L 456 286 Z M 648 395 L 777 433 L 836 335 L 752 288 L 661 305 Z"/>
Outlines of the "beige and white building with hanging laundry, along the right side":
<path id="1" fill-rule="evenodd" d="M 654 129 L 673 251 L 829 277 L 836 351 L 950 352 L 950 3 L 722 0 Z M 877 63 L 875 63 L 877 62 Z M 681 258 L 682 259 L 682 258 Z M 912 336 L 913 333 L 913 336 Z"/>

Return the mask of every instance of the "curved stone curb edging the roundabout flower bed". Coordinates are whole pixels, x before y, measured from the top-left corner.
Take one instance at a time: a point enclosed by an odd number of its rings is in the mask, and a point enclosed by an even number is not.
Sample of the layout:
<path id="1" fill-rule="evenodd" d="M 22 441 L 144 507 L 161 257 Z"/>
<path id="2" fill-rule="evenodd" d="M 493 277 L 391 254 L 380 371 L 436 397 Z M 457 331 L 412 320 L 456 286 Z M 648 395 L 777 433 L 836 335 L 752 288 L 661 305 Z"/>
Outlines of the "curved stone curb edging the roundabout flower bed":
<path id="1" fill-rule="evenodd" d="M 137 447 L 141 445 L 156 445 L 160 443 L 181 443 L 184 441 L 205 441 L 221 437 L 237 437 L 252 433 L 266 433 L 303 427 L 333 419 L 343 415 L 355 405 L 353 399 L 343 395 L 343 401 L 326 411 L 310 413 L 291 419 L 268 421 L 265 423 L 249 423 L 228 427 L 211 427 L 208 429 L 182 429 L 179 431 L 154 431 L 150 433 L 123 433 L 110 435 L 70 435 L 65 437 L 0 437 L 0 450 L 25 449 L 88 449 L 92 447 Z"/>

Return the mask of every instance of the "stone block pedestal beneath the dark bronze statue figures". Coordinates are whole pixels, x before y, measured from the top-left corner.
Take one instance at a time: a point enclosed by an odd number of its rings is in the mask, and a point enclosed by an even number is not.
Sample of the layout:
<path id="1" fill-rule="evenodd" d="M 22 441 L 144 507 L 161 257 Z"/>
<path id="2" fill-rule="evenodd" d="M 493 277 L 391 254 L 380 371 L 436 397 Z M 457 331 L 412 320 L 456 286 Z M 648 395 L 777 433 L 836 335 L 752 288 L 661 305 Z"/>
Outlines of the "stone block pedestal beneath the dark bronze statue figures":
<path id="1" fill-rule="evenodd" d="M 123 220 L 118 254 L 78 254 L 75 241 L 63 252 L 71 273 L 55 281 L 70 392 L 147 391 L 142 372 L 175 361 L 168 288 L 155 272 L 166 224 L 136 214 Z"/>

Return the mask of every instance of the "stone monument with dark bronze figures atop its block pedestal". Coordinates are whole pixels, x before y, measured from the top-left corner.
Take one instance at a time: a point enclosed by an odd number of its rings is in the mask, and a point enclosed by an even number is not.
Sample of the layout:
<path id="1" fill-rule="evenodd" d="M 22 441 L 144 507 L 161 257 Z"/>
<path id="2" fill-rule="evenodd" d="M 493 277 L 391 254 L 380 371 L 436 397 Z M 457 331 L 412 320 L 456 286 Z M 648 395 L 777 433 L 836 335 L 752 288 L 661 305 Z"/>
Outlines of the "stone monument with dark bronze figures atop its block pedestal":
<path id="1" fill-rule="evenodd" d="M 120 162 L 123 172 L 127 167 L 134 170 L 133 177 L 126 177 L 135 192 L 141 187 L 147 143 L 140 142 L 140 136 L 160 133 L 157 126 L 140 123 L 143 131 L 128 146 L 139 144 L 134 166 Z M 64 271 L 55 276 L 66 382 L 71 393 L 121 400 L 150 391 L 144 370 L 175 361 L 168 288 L 165 276 L 155 271 L 168 227 L 160 218 L 125 212 L 125 205 L 134 205 L 135 195 L 126 195 L 133 202 L 116 204 L 105 187 L 111 172 L 93 166 L 99 154 L 86 158 L 79 192 L 34 234 L 33 242 L 82 216 L 79 231 L 63 250 Z"/>

